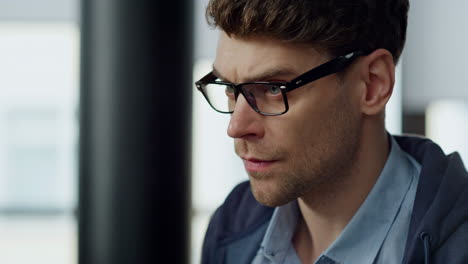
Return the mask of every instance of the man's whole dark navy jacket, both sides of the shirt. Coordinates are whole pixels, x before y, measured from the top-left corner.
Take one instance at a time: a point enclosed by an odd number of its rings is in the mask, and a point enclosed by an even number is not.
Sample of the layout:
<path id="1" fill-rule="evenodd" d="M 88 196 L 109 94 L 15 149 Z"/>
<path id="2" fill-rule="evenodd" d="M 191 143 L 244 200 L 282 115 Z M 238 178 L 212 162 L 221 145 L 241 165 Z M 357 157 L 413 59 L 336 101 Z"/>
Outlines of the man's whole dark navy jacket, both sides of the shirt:
<path id="1" fill-rule="evenodd" d="M 468 174 L 460 156 L 428 139 L 395 139 L 421 164 L 403 263 L 467 264 Z M 250 264 L 273 210 L 255 200 L 248 182 L 239 184 L 211 219 L 202 264 Z"/>

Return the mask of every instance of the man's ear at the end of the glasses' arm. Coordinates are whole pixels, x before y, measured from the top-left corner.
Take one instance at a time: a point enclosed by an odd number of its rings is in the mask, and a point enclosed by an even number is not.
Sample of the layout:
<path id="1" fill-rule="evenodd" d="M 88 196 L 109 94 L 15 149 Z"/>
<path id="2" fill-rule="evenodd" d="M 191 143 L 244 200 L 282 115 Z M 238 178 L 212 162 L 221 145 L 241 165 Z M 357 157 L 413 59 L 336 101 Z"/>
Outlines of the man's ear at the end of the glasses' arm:
<path id="1" fill-rule="evenodd" d="M 395 64 L 392 54 L 378 49 L 364 58 L 361 64 L 364 89 L 361 90 L 361 111 L 376 115 L 385 109 L 395 84 Z"/>

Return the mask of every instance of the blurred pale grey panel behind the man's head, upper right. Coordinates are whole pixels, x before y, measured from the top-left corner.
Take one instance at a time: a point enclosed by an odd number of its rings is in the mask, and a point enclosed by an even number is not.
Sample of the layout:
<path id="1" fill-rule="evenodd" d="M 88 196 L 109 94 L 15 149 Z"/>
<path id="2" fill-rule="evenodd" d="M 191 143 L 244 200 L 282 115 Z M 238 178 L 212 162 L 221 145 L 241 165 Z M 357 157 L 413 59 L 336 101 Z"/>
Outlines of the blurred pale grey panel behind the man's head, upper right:
<path id="1" fill-rule="evenodd" d="M 468 1 L 410 0 L 403 107 L 424 113 L 434 100 L 468 100 Z"/>

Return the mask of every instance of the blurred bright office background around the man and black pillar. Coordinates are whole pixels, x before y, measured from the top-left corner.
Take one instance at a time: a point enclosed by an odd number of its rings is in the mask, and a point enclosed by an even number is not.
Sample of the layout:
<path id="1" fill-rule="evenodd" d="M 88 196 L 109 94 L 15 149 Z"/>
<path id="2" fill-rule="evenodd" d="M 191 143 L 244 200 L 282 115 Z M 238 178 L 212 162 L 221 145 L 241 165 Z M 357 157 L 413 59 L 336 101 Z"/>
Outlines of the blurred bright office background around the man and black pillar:
<path id="1" fill-rule="evenodd" d="M 217 32 L 194 4 L 194 67 L 211 69 Z M 0 0 L 0 263 L 77 263 L 79 0 Z M 388 107 L 392 133 L 416 133 L 468 162 L 468 2 L 411 1 Z M 167 24 L 170 26 L 170 23 Z M 229 116 L 193 88 L 191 261 L 213 210 L 247 179 Z"/>

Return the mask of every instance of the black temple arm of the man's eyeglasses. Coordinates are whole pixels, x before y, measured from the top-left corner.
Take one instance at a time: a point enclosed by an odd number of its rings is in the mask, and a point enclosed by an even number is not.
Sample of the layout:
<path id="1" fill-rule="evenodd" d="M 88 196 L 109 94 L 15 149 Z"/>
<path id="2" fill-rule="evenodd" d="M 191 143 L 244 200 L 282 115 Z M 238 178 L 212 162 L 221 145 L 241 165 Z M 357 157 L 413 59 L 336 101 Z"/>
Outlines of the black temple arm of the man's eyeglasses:
<path id="1" fill-rule="evenodd" d="M 288 82 L 287 85 L 287 92 L 292 91 L 298 87 L 301 87 L 302 85 L 305 85 L 307 83 L 313 82 L 315 80 L 318 80 L 322 77 L 325 77 L 327 75 L 337 73 L 339 71 L 342 71 L 346 66 L 348 66 L 356 57 L 359 57 L 363 55 L 363 52 L 360 51 L 355 51 L 348 53 L 346 55 L 340 56 L 334 60 L 331 60 L 325 64 L 322 64 L 318 66 L 315 69 L 312 69 L 311 71 L 308 71 L 301 76 L 293 79 L 292 81 Z"/>

